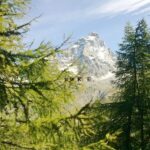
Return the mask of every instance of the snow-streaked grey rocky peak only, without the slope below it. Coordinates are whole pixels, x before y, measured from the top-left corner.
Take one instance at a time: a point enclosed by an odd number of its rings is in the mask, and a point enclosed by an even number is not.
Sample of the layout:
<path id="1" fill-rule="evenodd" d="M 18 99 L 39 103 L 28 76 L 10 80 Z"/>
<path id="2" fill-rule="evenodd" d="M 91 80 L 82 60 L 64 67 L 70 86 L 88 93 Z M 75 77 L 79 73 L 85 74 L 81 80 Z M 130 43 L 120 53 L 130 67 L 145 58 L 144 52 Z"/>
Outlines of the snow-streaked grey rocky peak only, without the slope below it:
<path id="1" fill-rule="evenodd" d="M 84 68 L 84 73 L 101 78 L 114 70 L 115 58 L 100 36 L 92 32 L 65 51 L 63 62 L 63 65 L 74 63 L 76 70 Z"/>

